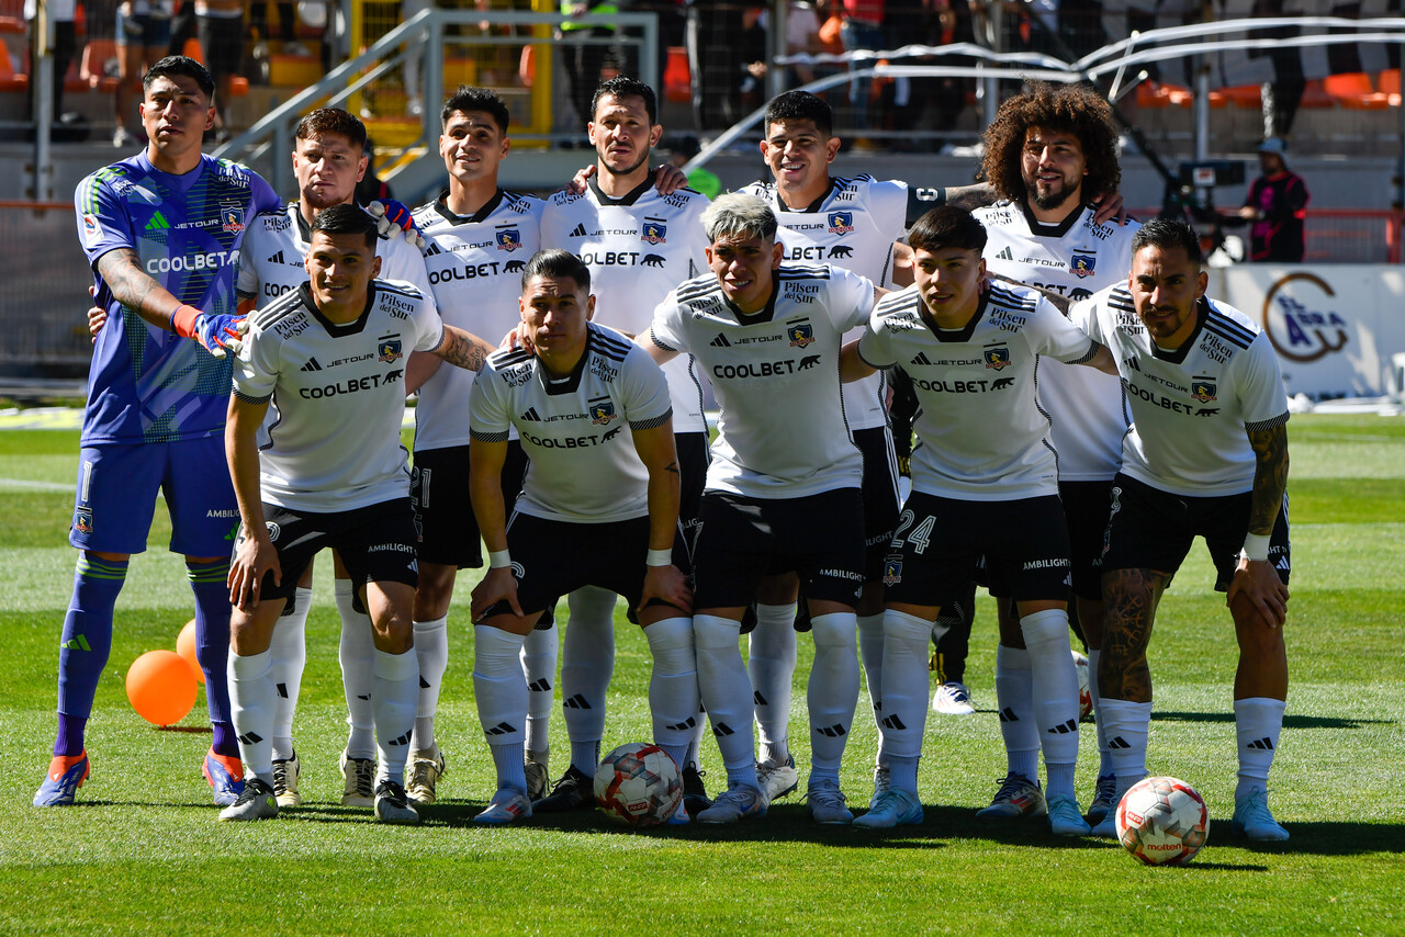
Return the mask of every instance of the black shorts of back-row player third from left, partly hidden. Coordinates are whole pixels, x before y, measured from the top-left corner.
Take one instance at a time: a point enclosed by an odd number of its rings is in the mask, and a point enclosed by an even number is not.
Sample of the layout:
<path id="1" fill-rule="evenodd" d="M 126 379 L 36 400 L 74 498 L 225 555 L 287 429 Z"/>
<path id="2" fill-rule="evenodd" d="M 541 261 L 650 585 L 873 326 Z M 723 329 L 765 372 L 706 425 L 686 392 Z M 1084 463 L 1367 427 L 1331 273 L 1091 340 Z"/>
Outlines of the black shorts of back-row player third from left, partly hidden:
<path id="1" fill-rule="evenodd" d="M 523 490 L 527 473 L 527 454 L 517 440 L 507 443 L 503 462 L 503 504 L 511 514 Z M 422 563 L 437 563 L 457 569 L 478 569 L 483 565 L 478 518 L 468 487 L 468 447 L 452 445 L 414 454 L 410 469 L 410 504 L 414 507 L 414 530 L 419 534 Z"/>

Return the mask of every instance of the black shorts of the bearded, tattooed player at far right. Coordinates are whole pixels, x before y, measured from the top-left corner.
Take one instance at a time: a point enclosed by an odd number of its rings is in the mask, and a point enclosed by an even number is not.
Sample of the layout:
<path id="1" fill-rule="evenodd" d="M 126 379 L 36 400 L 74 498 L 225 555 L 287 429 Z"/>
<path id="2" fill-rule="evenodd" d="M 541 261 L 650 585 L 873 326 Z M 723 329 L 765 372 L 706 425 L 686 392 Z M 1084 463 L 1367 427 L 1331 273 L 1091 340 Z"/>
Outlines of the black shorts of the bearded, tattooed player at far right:
<path id="1" fill-rule="evenodd" d="M 1249 530 L 1252 494 L 1186 497 L 1170 494 L 1134 478 L 1118 473 L 1113 479 L 1111 517 L 1103 545 L 1103 572 L 1113 569 L 1155 569 L 1175 573 L 1180 569 L 1190 544 L 1205 538 L 1215 565 L 1215 590 L 1227 591 L 1239 565 L 1239 549 Z M 1288 497 L 1273 521 L 1269 537 L 1269 561 L 1279 579 L 1288 584 L 1293 551 L 1288 544 Z"/>

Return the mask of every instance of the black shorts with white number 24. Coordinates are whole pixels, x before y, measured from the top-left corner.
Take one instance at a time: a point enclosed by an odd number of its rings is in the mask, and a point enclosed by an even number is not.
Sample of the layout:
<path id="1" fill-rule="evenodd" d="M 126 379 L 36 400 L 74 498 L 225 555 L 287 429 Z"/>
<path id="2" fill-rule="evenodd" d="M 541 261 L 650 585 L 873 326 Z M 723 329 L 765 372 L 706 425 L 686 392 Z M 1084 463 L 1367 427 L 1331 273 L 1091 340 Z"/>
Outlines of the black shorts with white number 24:
<path id="1" fill-rule="evenodd" d="M 1068 600 L 1068 530 L 1058 497 L 967 502 L 922 492 L 902 506 L 884 565 L 884 598 L 948 605 L 982 556 L 991 582 L 1007 586 L 1016 601 Z"/>

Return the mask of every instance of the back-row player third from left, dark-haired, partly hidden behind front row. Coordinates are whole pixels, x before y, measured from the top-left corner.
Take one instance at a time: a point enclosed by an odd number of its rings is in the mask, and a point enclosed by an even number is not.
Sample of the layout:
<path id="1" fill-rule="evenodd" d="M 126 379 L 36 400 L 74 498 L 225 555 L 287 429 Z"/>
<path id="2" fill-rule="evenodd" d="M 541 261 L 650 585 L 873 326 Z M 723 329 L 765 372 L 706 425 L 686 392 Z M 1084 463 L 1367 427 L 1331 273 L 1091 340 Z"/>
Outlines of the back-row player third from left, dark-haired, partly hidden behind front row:
<path id="1" fill-rule="evenodd" d="M 497 185 L 497 169 L 511 150 L 509 114 L 488 89 L 461 87 L 440 111 L 440 156 L 448 188 L 422 205 L 416 226 L 429 240 L 424 266 L 440 316 L 450 325 L 485 336 L 504 336 L 520 322 L 521 270 L 537 253 L 542 202 Z M 469 391 L 472 371 L 438 368 L 427 379 L 414 374 L 420 360 L 438 365 L 434 355 L 412 355 L 412 381 L 419 386 L 414 407 L 414 471 L 410 502 L 419 532 L 420 587 L 414 593 L 414 650 L 420 659 L 420 707 L 410 753 L 409 794 L 433 804 L 444 773 L 444 756 L 434 742 L 434 709 L 448 666 L 448 607 L 462 568 L 483 565 L 478 521 L 469 503 L 468 479 Z M 423 382 L 422 382 L 423 381 Z M 511 504 L 521 490 L 525 457 L 521 443 L 507 441 L 502 472 L 503 499 Z M 556 629 L 532 634 L 523 669 L 532 705 L 527 715 L 528 792 L 547 788 L 547 723 L 556 677 Z M 427 687 L 424 684 L 429 684 Z"/>

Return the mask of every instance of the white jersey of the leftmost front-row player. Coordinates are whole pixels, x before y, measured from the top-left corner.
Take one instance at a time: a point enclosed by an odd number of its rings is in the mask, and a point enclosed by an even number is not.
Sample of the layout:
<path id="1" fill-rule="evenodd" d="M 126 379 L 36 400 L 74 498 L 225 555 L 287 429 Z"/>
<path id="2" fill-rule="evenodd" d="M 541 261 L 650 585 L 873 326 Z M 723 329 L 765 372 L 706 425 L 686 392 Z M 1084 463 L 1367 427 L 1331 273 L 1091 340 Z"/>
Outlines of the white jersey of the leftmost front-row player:
<path id="1" fill-rule="evenodd" d="M 444 340 L 434 302 L 409 284 L 371 282 L 355 322 L 329 322 L 306 285 L 249 315 L 235 395 L 271 400 L 260 443 L 263 500 L 343 511 L 409 497 L 405 360 Z"/>

